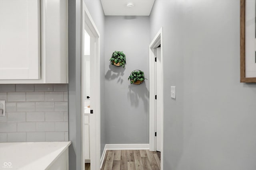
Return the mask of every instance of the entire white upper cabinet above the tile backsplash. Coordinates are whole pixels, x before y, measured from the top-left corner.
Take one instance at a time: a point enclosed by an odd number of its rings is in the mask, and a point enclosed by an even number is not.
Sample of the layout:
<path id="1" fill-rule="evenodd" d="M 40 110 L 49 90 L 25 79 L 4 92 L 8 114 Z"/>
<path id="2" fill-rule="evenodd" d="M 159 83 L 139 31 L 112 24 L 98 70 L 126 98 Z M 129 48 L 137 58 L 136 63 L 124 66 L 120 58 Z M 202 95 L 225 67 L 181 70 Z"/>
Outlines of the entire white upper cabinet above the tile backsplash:
<path id="1" fill-rule="evenodd" d="M 68 83 L 67 0 L 0 0 L 0 84 Z"/>

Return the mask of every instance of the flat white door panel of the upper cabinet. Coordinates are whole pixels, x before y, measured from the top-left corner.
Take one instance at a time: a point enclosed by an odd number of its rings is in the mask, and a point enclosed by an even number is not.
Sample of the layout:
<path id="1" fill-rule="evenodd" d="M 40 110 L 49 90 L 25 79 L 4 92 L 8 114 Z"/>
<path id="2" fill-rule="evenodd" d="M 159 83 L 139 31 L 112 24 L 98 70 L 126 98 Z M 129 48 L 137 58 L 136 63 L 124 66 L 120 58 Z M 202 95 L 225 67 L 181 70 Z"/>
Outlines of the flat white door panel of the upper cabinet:
<path id="1" fill-rule="evenodd" d="M 0 0 L 0 80 L 40 78 L 40 0 Z"/>

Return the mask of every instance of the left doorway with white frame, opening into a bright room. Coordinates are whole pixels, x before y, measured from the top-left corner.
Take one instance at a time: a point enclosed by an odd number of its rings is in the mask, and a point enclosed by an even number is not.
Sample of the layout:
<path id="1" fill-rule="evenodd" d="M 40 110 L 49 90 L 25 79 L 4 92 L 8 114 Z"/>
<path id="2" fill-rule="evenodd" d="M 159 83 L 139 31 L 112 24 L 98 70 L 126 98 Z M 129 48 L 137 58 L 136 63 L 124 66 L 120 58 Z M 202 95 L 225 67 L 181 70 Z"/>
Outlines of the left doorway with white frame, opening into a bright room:
<path id="1" fill-rule="evenodd" d="M 81 41 L 82 170 L 90 162 L 100 169 L 100 34 L 85 3 L 82 8 Z M 93 87 L 93 88 L 91 88 Z"/>

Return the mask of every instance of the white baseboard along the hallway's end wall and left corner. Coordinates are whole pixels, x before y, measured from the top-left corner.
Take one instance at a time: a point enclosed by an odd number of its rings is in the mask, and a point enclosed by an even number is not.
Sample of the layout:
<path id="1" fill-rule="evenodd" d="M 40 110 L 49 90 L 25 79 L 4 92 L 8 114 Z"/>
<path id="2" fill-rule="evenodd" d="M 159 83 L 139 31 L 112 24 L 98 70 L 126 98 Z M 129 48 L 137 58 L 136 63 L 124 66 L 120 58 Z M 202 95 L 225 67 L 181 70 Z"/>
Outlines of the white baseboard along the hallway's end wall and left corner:
<path id="1" fill-rule="evenodd" d="M 104 151 L 100 158 L 100 168 L 104 162 L 106 156 L 106 150 L 147 150 L 149 149 L 149 144 L 106 144 Z"/>

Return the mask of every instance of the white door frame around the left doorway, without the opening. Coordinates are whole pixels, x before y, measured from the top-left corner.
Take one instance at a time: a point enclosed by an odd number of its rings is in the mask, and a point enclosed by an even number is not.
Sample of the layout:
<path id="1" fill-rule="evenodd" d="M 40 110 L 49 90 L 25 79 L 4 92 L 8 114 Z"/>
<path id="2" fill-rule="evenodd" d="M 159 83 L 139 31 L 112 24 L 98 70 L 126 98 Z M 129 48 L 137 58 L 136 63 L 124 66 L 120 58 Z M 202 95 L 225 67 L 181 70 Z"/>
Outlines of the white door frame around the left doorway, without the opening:
<path id="1" fill-rule="evenodd" d="M 89 13 L 88 8 L 86 7 L 86 4 L 83 2 L 82 5 L 82 38 L 81 38 L 81 61 L 83 61 L 84 58 L 84 29 L 89 29 L 87 32 L 91 33 L 90 35 L 90 52 L 92 56 L 91 59 L 93 62 L 90 61 L 90 63 L 93 63 L 93 66 L 90 65 L 90 70 L 93 70 L 93 73 L 90 75 L 93 75 L 93 78 L 90 79 L 91 84 L 93 84 L 93 88 L 91 88 L 91 109 L 93 109 L 94 114 L 94 122 L 90 123 L 90 134 L 93 132 L 94 135 L 90 135 L 90 166 L 92 169 L 98 170 L 100 169 L 100 33 L 92 20 L 92 16 Z M 94 41 L 94 45 L 92 45 L 92 41 Z M 94 48 L 95 47 L 95 48 Z M 81 62 L 81 68 L 82 68 L 83 62 Z M 81 69 L 82 71 L 83 69 Z M 83 80 L 83 73 L 81 73 L 81 80 Z M 81 90 L 83 89 L 83 81 L 81 81 Z M 93 95 L 93 96 L 92 96 Z M 81 95 L 81 115 L 83 115 L 84 112 L 84 101 L 82 100 Z M 83 117 L 82 117 L 83 118 Z M 81 119 L 82 121 L 83 119 Z M 81 122 L 81 136 L 83 137 L 83 123 Z M 83 144 L 83 138 L 81 139 L 81 145 Z M 81 146 L 82 152 L 83 152 L 83 145 Z M 82 170 L 84 170 L 84 156 L 82 154 Z"/>

